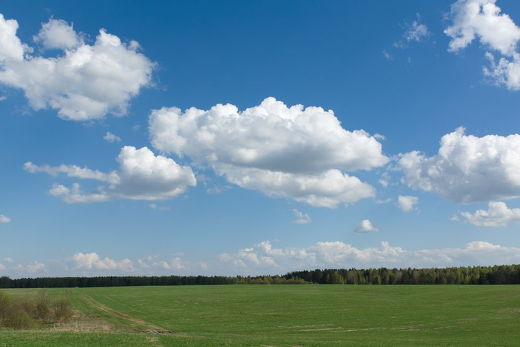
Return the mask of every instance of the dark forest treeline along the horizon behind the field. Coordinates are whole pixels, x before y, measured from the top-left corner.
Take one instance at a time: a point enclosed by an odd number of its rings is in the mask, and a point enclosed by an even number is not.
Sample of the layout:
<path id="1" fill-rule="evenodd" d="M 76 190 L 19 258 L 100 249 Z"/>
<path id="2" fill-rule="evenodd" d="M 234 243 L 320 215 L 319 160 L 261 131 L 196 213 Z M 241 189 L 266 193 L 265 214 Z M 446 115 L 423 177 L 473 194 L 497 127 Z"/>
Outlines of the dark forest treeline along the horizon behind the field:
<path id="1" fill-rule="evenodd" d="M 316 269 L 284 276 L 103 276 L 0 278 L 0 288 L 151 285 L 519 285 L 520 265 L 428 269 Z"/>

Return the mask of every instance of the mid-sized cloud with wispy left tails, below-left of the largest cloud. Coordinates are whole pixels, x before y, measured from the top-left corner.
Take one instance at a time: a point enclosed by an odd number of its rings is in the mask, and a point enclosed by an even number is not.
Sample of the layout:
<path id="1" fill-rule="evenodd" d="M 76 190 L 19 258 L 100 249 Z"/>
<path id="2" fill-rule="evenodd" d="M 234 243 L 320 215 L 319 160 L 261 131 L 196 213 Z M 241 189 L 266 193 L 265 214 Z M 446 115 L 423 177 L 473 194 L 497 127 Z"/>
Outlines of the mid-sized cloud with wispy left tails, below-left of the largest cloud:
<path id="1" fill-rule="evenodd" d="M 88 168 L 80 169 L 76 165 L 60 165 L 38 167 L 32 162 L 26 162 L 26 171 L 46 172 L 51 175 L 67 174 L 74 178 L 89 178 L 109 185 L 98 186 L 92 192 L 83 192 L 78 183 L 72 187 L 55 184 L 49 191 L 67 203 L 92 203 L 114 199 L 128 198 L 135 200 L 164 200 L 173 198 L 186 191 L 188 186 L 196 185 L 197 181 L 191 167 L 181 167 L 170 158 L 154 155 L 148 148 L 135 149 L 124 146 L 116 161 L 120 171 L 104 174 Z"/>

